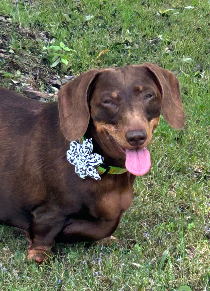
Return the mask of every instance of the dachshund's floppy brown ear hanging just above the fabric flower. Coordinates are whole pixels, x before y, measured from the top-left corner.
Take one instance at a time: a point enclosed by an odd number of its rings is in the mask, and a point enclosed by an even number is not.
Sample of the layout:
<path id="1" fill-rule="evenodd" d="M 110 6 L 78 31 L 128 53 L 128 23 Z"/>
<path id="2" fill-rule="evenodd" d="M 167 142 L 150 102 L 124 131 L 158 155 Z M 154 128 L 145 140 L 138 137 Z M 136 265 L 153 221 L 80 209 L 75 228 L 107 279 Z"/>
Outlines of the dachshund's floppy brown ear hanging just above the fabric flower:
<path id="1" fill-rule="evenodd" d="M 96 69 L 85 72 L 58 92 L 61 130 L 69 141 L 80 139 L 87 130 L 90 119 L 87 95 L 98 72 Z"/>

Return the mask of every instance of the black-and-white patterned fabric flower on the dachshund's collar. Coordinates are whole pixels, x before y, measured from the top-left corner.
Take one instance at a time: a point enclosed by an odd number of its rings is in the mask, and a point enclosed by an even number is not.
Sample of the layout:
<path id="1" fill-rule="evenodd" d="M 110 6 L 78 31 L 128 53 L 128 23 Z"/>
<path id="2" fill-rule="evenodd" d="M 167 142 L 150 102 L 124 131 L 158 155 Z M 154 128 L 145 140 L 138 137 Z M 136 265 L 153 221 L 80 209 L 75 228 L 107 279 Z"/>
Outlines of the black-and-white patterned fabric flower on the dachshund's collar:
<path id="1" fill-rule="evenodd" d="M 84 139 L 83 143 L 72 141 L 70 150 L 66 152 L 66 156 L 70 164 L 75 165 L 75 172 L 80 178 L 85 179 L 87 176 L 100 180 L 96 166 L 103 163 L 104 157 L 93 154 L 92 139 Z"/>

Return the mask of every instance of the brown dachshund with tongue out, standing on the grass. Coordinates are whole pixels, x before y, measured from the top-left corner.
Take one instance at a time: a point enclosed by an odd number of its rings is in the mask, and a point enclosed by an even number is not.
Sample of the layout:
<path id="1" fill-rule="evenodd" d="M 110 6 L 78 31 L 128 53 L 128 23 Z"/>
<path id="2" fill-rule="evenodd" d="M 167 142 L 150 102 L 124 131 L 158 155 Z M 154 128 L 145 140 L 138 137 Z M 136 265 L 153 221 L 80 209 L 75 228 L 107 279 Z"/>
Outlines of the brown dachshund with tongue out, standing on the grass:
<path id="1" fill-rule="evenodd" d="M 136 175 L 150 168 L 161 110 L 172 127 L 183 126 L 177 78 L 150 63 L 85 72 L 61 88 L 58 102 L 0 89 L 0 223 L 27 231 L 29 260 L 42 262 L 55 241 L 114 232 Z M 93 167 L 98 180 L 81 178 L 67 160 L 70 141 L 83 136 L 92 138 L 90 156 L 104 157 Z"/>

